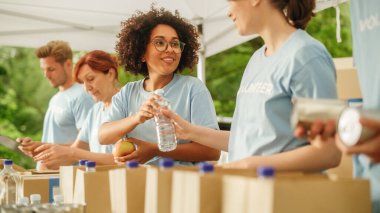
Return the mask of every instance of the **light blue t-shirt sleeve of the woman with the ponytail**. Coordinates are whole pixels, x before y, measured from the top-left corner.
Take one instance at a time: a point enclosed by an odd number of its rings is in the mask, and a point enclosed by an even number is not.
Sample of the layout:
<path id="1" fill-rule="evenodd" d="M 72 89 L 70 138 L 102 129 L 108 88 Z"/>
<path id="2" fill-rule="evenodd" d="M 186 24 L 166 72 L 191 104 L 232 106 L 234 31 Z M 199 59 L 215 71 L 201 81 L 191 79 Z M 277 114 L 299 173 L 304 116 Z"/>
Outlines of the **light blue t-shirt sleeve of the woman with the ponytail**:
<path id="1" fill-rule="evenodd" d="M 336 72 L 332 61 L 315 57 L 305 63 L 293 76 L 292 96 L 305 98 L 336 99 Z"/>

